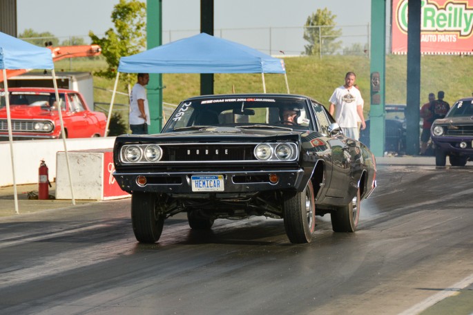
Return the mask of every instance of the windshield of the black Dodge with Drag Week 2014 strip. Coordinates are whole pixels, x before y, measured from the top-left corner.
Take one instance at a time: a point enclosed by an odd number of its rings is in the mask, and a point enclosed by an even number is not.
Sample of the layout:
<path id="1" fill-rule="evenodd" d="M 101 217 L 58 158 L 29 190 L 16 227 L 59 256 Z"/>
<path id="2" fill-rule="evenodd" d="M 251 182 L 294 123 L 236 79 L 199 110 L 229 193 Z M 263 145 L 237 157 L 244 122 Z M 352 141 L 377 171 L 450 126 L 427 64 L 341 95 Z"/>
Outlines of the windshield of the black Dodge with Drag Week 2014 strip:
<path id="1" fill-rule="evenodd" d="M 307 102 L 300 97 L 209 97 L 182 102 L 163 133 L 195 128 L 287 128 L 313 130 Z"/>

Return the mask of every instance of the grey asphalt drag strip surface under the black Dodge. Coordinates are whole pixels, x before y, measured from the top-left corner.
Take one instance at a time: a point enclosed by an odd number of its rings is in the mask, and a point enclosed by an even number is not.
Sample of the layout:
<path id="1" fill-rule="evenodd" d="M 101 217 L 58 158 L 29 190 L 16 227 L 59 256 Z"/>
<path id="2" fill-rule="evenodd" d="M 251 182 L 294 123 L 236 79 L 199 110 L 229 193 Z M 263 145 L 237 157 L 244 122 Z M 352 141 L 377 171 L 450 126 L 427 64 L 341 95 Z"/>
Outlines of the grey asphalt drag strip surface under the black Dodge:
<path id="1" fill-rule="evenodd" d="M 309 245 L 282 220 L 182 215 L 139 245 L 129 199 L 1 218 L 0 314 L 414 314 L 473 282 L 472 178 L 379 166 L 359 230 L 316 217 Z"/>

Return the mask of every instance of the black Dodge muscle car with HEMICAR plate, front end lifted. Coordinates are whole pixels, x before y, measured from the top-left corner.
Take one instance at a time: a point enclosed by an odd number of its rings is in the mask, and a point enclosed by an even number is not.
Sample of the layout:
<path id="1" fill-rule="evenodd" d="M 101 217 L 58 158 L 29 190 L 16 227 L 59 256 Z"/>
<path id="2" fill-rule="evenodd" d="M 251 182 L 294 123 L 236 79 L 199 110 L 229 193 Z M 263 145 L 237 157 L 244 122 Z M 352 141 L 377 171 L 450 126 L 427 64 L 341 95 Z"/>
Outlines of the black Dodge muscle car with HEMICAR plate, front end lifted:
<path id="1" fill-rule="evenodd" d="M 162 133 L 121 135 L 113 152 L 113 175 L 132 195 L 133 231 L 145 243 L 180 212 L 191 229 L 218 218 L 282 218 L 293 243 L 310 242 L 315 216 L 326 213 L 334 231 L 354 232 L 376 187 L 374 155 L 302 95 L 186 99 Z"/>

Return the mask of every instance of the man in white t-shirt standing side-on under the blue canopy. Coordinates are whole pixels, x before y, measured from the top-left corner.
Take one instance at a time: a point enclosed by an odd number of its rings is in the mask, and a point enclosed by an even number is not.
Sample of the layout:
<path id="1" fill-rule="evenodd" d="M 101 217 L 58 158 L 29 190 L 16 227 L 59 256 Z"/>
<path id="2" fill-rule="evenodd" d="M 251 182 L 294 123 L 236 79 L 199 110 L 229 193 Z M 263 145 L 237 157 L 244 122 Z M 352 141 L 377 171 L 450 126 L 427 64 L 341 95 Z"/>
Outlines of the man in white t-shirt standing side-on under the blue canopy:
<path id="1" fill-rule="evenodd" d="M 131 89 L 129 123 L 131 133 L 134 135 L 148 134 L 148 125 L 151 124 L 146 88 L 144 88 L 148 82 L 148 73 L 138 73 L 138 82 Z"/>

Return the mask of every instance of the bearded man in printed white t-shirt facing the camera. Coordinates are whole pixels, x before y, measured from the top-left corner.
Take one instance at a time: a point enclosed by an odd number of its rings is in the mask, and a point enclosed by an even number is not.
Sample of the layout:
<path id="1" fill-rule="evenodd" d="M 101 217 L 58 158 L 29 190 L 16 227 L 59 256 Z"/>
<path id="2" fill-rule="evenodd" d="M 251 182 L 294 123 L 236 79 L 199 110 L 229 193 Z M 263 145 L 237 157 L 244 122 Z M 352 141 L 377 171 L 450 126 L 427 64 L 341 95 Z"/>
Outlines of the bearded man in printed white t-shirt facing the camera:
<path id="1" fill-rule="evenodd" d="M 329 113 L 334 116 L 347 137 L 358 140 L 360 132 L 357 122 L 361 122 L 361 129 L 366 128 L 366 123 L 363 117 L 363 98 L 360 91 L 354 87 L 355 79 L 355 73 L 349 72 L 345 75 L 345 85 L 336 88 L 329 99 Z"/>

